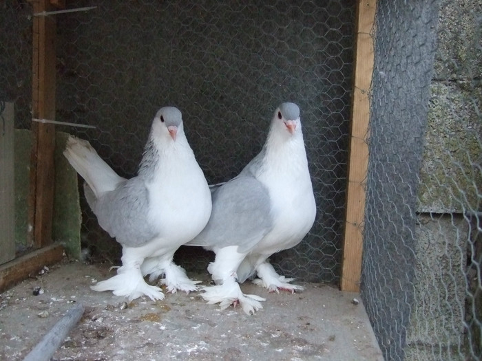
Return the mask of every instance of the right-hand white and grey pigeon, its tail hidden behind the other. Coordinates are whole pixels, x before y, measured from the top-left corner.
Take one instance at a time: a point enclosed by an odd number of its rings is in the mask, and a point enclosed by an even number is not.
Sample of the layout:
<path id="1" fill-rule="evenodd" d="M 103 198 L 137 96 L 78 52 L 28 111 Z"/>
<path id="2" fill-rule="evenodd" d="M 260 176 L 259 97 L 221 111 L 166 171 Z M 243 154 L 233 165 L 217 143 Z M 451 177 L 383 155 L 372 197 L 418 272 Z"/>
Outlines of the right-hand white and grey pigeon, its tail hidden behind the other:
<path id="1" fill-rule="evenodd" d="M 300 108 L 285 102 L 274 113 L 266 143 L 241 173 L 211 187 L 213 209 L 207 226 L 187 245 L 216 253 L 208 266 L 217 285 L 204 288 L 208 303 L 242 305 L 247 314 L 262 308 L 239 283 L 253 282 L 270 292 L 302 287 L 275 272 L 271 254 L 302 241 L 315 221 L 316 206 L 304 148 Z"/>

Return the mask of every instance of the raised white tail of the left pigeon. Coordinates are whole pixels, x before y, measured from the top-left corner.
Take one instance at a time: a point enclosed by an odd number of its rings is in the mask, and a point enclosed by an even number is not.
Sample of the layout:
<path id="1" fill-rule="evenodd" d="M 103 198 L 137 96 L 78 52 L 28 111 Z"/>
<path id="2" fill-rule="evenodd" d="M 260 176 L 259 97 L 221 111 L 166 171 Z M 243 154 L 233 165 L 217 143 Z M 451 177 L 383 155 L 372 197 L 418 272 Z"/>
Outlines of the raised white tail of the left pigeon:
<path id="1" fill-rule="evenodd" d="M 124 180 L 105 163 L 86 140 L 73 137 L 67 139 L 63 155 L 74 167 L 98 198 L 103 193 L 114 190 Z"/>

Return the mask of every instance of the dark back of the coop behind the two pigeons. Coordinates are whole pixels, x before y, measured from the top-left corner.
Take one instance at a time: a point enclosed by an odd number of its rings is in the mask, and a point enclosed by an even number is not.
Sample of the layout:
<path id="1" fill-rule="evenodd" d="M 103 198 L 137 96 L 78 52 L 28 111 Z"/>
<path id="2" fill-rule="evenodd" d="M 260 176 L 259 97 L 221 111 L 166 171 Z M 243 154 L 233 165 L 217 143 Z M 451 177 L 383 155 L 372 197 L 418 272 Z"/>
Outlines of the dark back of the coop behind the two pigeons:
<path id="1" fill-rule="evenodd" d="M 287 276 L 336 283 L 355 3 L 68 1 L 68 8 L 84 6 L 97 8 L 57 16 L 56 120 L 96 129 L 57 129 L 90 140 L 116 172 L 132 177 L 156 110 L 174 105 L 214 183 L 235 176 L 260 151 L 280 102 L 296 102 L 317 217 L 300 245 L 271 261 Z M 28 111 L 17 113 L 17 127 L 28 127 Z M 83 245 L 117 262 L 119 246 L 81 205 Z M 211 258 L 200 248 L 176 253 L 187 270 L 205 271 Z"/>

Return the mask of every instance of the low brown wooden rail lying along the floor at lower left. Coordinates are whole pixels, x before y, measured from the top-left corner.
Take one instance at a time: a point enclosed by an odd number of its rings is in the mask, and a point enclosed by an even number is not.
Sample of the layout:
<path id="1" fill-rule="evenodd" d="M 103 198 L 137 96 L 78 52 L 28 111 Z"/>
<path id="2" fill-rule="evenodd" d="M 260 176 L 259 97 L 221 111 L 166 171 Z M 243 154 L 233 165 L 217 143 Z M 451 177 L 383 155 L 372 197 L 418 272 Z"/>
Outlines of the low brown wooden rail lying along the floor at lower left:
<path id="1" fill-rule="evenodd" d="M 62 257 L 63 246 L 55 243 L 0 265 L 0 292 L 28 278 L 29 274 L 36 274 L 44 265 L 58 263 Z"/>

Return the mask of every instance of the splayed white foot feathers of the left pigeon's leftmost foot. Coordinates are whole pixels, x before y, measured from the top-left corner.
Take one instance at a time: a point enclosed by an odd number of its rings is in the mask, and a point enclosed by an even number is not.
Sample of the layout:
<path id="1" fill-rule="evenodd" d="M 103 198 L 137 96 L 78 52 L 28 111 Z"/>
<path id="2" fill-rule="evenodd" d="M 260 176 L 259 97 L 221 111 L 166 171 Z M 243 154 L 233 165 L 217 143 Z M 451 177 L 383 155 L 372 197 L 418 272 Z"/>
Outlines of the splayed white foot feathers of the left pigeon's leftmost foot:
<path id="1" fill-rule="evenodd" d="M 116 296 L 128 297 L 129 301 L 142 296 L 147 296 L 151 300 L 164 299 L 161 289 L 145 283 L 140 269 L 132 266 L 119 267 L 116 276 L 98 282 L 90 288 L 98 292 L 112 291 Z"/>

